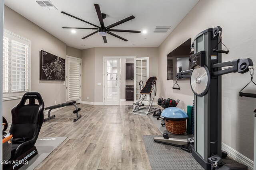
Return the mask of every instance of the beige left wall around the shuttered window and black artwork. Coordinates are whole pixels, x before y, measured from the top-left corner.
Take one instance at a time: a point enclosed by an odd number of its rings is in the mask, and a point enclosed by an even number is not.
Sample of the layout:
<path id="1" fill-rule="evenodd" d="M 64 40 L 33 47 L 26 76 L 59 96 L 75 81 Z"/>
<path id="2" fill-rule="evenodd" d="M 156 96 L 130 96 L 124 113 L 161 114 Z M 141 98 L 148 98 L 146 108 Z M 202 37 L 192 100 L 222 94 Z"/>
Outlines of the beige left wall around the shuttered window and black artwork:
<path id="1" fill-rule="evenodd" d="M 66 102 L 63 81 L 42 81 L 40 75 L 40 50 L 47 51 L 61 58 L 66 58 L 66 44 L 27 20 L 12 9 L 4 6 L 4 29 L 12 31 L 31 41 L 31 91 L 42 95 L 45 106 Z M 3 102 L 3 116 L 11 122 L 10 110 L 20 102 L 9 100 Z"/>

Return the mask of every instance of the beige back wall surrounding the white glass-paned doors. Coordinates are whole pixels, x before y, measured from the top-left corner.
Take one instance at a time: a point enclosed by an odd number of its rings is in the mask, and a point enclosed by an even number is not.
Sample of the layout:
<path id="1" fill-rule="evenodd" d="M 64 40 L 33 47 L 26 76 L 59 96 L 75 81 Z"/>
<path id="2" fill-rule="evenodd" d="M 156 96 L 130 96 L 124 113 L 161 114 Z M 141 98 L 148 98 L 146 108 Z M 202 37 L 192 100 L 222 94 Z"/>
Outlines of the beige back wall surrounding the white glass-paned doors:
<path id="1" fill-rule="evenodd" d="M 94 51 L 94 52 L 92 52 Z M 95 53 L 93 55 L 93 53 Z M 82 74 L 84 77 L 85 72 L 90 71 L 90 75 L 94 75 L 94 82 L 84 82 L 82 78 L 82 101 L 88 102 L 103 102 L 103 57 L 104 56 L 136 56 L 136 57 L 149 57 L 149 76 L 158 76 L 158 48 L 114 48 L 114 47 L 97 47 L 92 49 L 85 49 L 82 51 Z M 84 61 L 90 58 L 91 63 Z M 93 62 L 94 57 L 94 62 Z M 85 64 L 93 65 L 94 67 L 89 69 Z M 90 67 L 90 66 L 89 66 Z M 101 85 L 97 85 L 100 82 Z M 94 91 L 94 100 L 87 100 L 86 96 L 92 95 Z"/>

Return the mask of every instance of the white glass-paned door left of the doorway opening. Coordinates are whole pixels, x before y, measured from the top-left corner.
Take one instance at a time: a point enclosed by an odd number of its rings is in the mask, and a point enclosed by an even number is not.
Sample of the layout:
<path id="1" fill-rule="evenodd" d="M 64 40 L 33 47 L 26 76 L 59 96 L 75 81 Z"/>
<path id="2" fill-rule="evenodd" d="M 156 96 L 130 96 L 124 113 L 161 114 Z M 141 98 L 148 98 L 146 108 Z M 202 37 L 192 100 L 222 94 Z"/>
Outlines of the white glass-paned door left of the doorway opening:
<path id="1" fill-rule="evenodd" d="M 105 105 L 119 105 L 120 59 L 105 59 Z"/>

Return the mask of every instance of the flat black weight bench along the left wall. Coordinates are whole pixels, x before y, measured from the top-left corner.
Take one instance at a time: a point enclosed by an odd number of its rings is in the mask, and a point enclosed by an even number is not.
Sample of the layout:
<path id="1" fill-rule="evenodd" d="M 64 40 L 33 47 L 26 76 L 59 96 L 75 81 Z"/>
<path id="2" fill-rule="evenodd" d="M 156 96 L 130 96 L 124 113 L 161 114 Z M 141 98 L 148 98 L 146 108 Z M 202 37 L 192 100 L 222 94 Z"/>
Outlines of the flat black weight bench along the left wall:
<path id="1" fill-rule="evenodd" d="M 44 121 L 47 121 L 49 119 L 52 119 L 53 117 L 55 117 L 55 115 L 52 115 L 51 116 L 51 111 L 52 109 L 57 109 L 57 108 L 60 108 L 60 107 L 65 107 L 65 106 L 70 106 L 70 105 L 73 105 L 76 109 L 73 111 L 73 113 L 75 114 L 76 113 L 76 119 L 74 119 L 74 121 L 77 121 L 81 115 L 79 115 L 78 111 L 80 111 L 81 109 L 80 108 L 77 108 L 76 106 L 76 101 L 73 101 L 73 102 L 66 102 L 66 103 L 62 103 L 62 104 L 57 104 L 57 105 L 54 105 L 54 106 L 49 106 L 49 107 L 46 107 L 45 109 L 48 110 L 48 117 L 44 119 Z"/>

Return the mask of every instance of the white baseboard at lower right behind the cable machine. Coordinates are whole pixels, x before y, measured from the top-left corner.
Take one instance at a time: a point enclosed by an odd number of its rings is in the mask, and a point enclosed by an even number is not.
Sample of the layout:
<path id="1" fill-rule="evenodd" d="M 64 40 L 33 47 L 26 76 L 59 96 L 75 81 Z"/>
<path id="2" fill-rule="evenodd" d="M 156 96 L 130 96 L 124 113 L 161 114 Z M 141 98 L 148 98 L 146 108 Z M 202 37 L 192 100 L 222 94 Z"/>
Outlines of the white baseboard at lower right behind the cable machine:
<path id="1" fill-rule="evenodd" d="M 234 160 L 236 160 L 237 162 L 242 163 L 248 166 L 248 168 L 250 168 L 251 170 L 253 170 L 254 162 L 252 160 L 240 154 L 238 151 L 234 150 L 233 148 L 229 147 L 223 142 L 222 142 L 222 150 L 225 150 L 226 152 L 228 152 L 228 155 Z"/>

